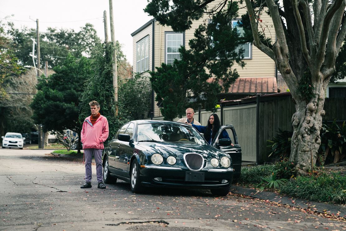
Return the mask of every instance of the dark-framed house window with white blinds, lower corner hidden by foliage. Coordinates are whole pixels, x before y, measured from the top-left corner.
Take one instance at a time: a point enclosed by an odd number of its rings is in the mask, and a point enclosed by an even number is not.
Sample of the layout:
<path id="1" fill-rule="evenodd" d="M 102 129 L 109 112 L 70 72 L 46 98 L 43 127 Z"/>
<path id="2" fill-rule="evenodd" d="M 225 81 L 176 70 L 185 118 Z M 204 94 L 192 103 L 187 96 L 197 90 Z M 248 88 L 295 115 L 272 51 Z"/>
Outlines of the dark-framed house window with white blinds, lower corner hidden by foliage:
<path id="1" fill-rule="evenodd" d="M 166 33 L 166 64 L 173 65 L 180 60 L 179 48 L 183 46 L 183 33 Z"/>

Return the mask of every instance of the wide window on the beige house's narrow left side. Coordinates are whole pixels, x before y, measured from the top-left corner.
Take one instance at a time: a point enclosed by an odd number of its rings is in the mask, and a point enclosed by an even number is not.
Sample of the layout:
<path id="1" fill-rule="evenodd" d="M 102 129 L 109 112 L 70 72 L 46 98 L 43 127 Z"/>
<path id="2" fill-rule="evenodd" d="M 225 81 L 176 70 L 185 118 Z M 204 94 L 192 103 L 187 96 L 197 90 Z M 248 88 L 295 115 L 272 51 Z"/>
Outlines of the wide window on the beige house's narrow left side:
<path id="1" fill-rule="evenodd" d="M 149 36 L 137 42 L 137 72 L 149 70 Z"/>

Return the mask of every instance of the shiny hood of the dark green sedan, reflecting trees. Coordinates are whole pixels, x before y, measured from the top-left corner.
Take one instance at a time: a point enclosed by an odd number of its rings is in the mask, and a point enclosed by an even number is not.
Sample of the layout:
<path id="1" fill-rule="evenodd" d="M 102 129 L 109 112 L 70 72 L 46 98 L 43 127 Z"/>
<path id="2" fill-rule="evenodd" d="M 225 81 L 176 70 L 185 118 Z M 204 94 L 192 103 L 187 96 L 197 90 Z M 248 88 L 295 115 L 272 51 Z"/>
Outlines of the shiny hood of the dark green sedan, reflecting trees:
<path id="1" fill-rule="evenodd" d="M 201 154 L 206 159 L 216 156 L 229 156 L 227 153 L 219 149 L 210 145 L 202 144 L 139 142 L 138 148 L 148 154 L 160 153 L 163 156 L 174 156 L 178 160 L 183 160 L 183 155 L 191 152 Z"/>

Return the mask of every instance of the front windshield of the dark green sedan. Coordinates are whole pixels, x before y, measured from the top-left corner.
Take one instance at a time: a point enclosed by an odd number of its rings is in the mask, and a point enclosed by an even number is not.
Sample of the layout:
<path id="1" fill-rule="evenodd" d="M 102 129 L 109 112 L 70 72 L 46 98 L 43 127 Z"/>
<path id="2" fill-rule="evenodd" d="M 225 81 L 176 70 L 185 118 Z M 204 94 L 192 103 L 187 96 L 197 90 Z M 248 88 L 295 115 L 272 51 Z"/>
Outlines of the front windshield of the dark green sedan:
<path id="1" fill-rule="evenodd" d="M 137 141 L 207 144 L 192 127 L 176 124 L 138 124 Z"/>

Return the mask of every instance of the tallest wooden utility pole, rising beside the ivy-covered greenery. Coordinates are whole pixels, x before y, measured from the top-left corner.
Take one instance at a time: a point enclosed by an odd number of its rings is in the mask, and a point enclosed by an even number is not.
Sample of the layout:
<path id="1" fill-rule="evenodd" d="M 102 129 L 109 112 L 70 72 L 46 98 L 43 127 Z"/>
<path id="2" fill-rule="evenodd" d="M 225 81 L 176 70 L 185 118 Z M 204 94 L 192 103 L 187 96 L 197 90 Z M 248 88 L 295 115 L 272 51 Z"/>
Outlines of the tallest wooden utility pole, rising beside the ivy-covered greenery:
<path id="1" fill-rule="evenodd" d="M 110 20 L 110 36 L 112 43 L 114 44 L 114 53 L 112 54 L 112 70 L 113 70 L 113 88 L 114 88 L 114 100 L 116 104 L 115 115 L 118 115 L 118 70 L 117 70 L 117 49 L 115 41 L 115 32 L 114 32 L 114 19 L 113 19 L 113 0 L 109 0 L 109 20 Z"/>

